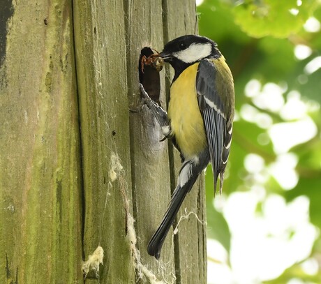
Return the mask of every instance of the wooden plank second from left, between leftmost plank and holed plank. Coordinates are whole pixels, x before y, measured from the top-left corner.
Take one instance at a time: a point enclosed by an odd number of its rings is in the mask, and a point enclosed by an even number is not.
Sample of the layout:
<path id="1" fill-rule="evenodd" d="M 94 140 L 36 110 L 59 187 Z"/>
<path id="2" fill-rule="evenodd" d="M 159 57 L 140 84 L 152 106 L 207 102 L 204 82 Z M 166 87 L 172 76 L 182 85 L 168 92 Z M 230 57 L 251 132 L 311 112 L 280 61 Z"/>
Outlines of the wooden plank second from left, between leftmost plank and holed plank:
<path id="1" fill-rule="evenodd" d="M 84 257 L 105 251 L 100 283 L 135 281 L 122 1 L 74 2 L 84 179 Z"/>

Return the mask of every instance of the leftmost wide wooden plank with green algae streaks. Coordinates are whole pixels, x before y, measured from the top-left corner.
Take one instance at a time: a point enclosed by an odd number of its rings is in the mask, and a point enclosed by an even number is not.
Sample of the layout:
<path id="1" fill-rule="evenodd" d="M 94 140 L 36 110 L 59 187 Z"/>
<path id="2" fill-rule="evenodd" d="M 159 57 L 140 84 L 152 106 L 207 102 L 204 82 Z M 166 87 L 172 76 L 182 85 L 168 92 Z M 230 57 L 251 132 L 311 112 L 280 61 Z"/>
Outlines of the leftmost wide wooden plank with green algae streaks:
<path id="1" fill-rule="evenodd" d="M 83 208 L 72 6 L 31 0 L 6 9 L 0 283 L 75 283 L 82 279 Z"/>

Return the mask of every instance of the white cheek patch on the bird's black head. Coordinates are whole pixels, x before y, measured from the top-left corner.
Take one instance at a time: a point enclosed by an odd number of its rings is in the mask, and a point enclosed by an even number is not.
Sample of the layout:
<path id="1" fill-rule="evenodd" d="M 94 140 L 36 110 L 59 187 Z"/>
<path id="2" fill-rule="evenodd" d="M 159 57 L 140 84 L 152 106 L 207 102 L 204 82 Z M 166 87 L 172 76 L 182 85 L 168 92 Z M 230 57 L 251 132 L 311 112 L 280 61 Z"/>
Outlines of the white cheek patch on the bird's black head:
<path id="1" fill-rule="evenodd" d="M 186 63 L 199 61 L 211 54 L 211 43 L 192 43 L 186 50 L 174 52 L 177 59 Z"/>

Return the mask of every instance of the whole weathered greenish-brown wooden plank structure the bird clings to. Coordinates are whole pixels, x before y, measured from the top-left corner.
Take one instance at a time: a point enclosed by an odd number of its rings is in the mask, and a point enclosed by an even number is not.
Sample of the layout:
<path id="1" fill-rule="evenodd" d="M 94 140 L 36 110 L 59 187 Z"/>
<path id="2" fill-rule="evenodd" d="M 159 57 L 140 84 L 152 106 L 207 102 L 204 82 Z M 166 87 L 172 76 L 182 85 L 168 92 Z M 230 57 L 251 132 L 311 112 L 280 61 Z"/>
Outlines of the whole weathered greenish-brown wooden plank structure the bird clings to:
<path id="1" fill-rule="evenodd" d="M 147 110 L 128 111 L 140 51 L 197 32 L 195 1 L 5 2 L 0 283 L 206 283 L 203 179 L 160 260 L 147 254 L 180 161 Z M 162 71 L 163 106 L 169 86 Z"/>

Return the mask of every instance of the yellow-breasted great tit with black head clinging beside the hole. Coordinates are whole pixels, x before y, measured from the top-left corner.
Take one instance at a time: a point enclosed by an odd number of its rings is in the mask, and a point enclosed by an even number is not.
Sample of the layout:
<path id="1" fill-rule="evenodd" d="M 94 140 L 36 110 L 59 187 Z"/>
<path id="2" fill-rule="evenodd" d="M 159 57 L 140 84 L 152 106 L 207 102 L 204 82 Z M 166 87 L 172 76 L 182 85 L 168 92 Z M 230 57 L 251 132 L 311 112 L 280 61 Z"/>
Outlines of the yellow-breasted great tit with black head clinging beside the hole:
<path id="1" fill-rule="evenodd" d="M 164 121 L 165 117 L 168 122 L 161 124 L 163 134 L 179 150 L 182 165 L 163 221 L 148 244 L 149 255 L 156 259 L 186 194 L 209 162 L 214 192 L 220 176 L 221 193 L 234 118 L 232 73 L 213 40 L 181 36 L 167 43 L 159 56 L 174 68 L 174 78 L 167 117 L 163 111 L 158 121 Z"/>

